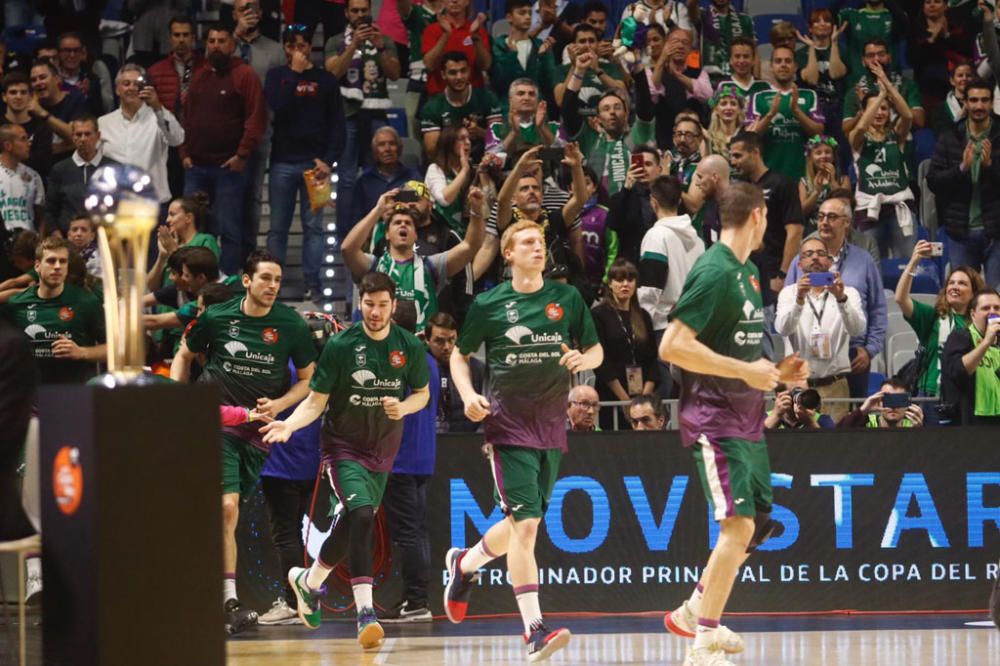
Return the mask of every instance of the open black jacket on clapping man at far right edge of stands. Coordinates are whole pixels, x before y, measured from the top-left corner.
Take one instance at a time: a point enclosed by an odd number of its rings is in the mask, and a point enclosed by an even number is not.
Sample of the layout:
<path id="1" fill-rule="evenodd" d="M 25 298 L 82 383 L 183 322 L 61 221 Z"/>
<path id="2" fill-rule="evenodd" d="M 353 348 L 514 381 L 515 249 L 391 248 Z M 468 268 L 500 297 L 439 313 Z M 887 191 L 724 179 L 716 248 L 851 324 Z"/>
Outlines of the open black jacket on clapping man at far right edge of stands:
<path id="1" fill-rule="evenodd" d="M 979 175 L 983 207 L 983 227 L 990 238 L 1000 239 L 1000 116 L 993 115 L 990 129 L 993 164 Z M 966 123 L 957 123 L 943 132 L 934 146 L 934 157 L 927 172 L 927 185 L 937 199 L 938 225 L 952 238 L 969 234 L 969 202 L 972 179 L 962 173 L 962 153 L 968 143 Z"/>

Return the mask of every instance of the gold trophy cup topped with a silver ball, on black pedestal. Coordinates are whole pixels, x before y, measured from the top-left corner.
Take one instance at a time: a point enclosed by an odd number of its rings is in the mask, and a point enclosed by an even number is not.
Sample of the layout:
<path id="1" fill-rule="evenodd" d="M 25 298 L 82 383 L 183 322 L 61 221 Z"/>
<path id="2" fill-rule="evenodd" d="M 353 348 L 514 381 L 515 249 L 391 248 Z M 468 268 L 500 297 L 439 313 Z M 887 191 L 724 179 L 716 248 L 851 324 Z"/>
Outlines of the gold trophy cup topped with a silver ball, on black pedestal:
<path id="1" fill-rule="evenodd" d="M 90 179 L 84 206 L 97 228 L 104 271 L 108 373 L 102 383 L 141 383 L 146 363 L 142 297 L 160 210 L 152 178 L 132 166 L 103 166 Z"/>

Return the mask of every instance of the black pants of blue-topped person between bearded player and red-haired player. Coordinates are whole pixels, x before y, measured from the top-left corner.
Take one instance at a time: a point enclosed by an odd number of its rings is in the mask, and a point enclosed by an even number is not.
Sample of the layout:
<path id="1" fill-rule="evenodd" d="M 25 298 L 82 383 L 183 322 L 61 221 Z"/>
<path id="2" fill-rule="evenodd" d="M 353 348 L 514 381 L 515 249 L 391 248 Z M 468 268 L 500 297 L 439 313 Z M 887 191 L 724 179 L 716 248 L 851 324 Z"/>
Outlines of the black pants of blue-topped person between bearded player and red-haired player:
<path id="1" fill-rule="evenodd" d="M 390 474 L 382 498 L 389 532 L 399 548 L 409 608 L 427 607 L 431 542 L 427 533 L 427 480 L 421 474 Z"/>

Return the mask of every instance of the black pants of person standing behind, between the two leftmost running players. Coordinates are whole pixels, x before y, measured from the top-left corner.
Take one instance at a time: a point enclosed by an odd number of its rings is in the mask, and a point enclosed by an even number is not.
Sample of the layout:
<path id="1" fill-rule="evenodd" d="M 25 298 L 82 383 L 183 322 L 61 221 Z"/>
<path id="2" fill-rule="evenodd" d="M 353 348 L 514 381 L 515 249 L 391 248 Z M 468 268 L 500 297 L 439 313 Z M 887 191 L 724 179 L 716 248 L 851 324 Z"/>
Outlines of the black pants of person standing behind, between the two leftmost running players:
<path id="1" fill-rule="evenodd" d="M 303 564 L 302 552 L 305 545 L 302 542 L 302 516 L 309 512 L 315 481 L 262 476 L 260 483 L 271 518 L 271 541 L 278 549 L 278 559 L 281 562 L 285 601 L 295 608 L 295 594 L 288 584 L 288 570 Z"/>

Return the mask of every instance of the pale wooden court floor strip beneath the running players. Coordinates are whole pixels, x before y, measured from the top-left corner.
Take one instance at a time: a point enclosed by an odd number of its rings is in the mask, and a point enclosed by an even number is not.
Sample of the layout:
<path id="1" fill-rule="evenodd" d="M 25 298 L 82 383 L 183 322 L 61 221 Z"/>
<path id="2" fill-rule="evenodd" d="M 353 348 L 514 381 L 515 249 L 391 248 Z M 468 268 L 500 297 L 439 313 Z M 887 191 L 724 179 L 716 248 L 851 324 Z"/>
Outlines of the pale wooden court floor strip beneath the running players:
<path id="1" fill-rule="evenodd" d="M 663 630 L 662 614 L 611 617 L 549 616 L 550 627 L 574 636 L 551 663 L 681 664 L 688 641 Z M 985 614 L 727 616 L 747 649 L 746 666 L 987 666 L 1000 664 L 1000 631 Z M 968 624 L 973 623 L 973 624 Z M 469 619 L 459 626 L 385 625 L 380 649 L 363 652 L 353 623 L 325 620 L 319 630 L 258 627 L 228 643 L 228 666 L 342 664 L 525 664 L 516 618 Z"/>

